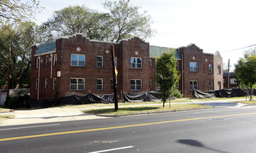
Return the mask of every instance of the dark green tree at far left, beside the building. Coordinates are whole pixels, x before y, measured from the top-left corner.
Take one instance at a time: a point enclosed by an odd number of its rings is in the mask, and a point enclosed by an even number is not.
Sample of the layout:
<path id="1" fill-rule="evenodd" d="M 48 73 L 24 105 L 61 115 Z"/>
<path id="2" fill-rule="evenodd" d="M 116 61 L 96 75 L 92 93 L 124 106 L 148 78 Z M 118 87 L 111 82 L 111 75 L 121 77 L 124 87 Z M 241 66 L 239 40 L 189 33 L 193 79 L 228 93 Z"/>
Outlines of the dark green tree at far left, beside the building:
<path id="1" fill-rule="evenodd" d="M 7 85 L 8 51 L 11 47 L 10 88 L 30 86 L 31 45 L 37 42 L 35 23 L 5 23 L 0 27 L 0 87 Z"/>

